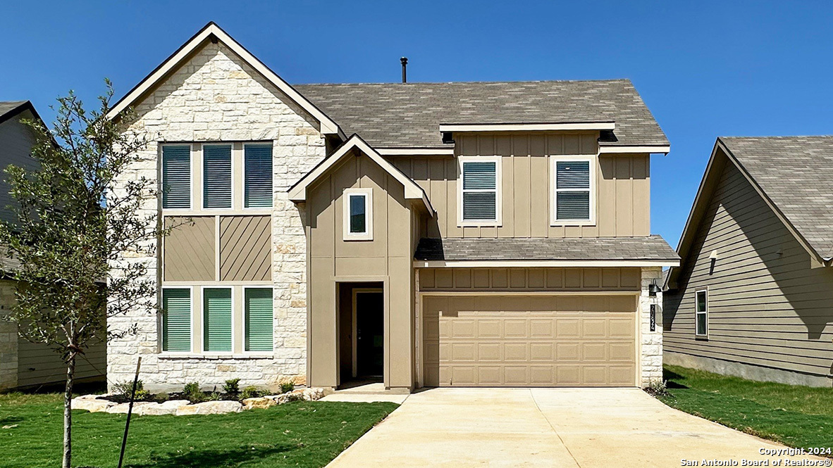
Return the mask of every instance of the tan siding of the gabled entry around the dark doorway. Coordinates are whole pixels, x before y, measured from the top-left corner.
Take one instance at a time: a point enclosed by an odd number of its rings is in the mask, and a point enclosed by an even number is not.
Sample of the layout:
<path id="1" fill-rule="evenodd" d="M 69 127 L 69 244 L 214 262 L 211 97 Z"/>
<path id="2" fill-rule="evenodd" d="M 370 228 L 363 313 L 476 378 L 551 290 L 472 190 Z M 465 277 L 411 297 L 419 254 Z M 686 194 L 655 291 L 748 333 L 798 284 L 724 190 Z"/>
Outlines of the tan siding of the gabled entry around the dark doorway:
<path id="1" fill-rule="evenodd" d="M 344 240 L 344 190 L 372 190 L 372 240 Z M 339 384 L 337 283 L 381 282 L 385 288 L 386 387 L 413 386 L 412 200 L 366 155 L 346 158 L 307 188 L 310 252 L 310 379 Z"/>

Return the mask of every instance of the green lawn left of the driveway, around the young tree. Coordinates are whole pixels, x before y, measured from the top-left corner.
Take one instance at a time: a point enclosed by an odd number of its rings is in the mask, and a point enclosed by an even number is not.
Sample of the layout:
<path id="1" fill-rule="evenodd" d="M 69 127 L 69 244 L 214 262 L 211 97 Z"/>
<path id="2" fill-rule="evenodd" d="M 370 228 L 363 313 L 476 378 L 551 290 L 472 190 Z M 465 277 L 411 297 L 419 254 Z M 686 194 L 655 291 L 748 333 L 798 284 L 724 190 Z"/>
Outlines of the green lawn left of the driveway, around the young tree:
<path id="1" fill-rule="evenodd" d="M 396 407 L 304 401 L 229 415 L 135 416 L 125 466 L 325 466 Z M 0 395 L 0 466 L 60 466 L 62 411 L 58 394 Z M 115 467 L 125 417 L 73 411 L 73 465 Z"/>

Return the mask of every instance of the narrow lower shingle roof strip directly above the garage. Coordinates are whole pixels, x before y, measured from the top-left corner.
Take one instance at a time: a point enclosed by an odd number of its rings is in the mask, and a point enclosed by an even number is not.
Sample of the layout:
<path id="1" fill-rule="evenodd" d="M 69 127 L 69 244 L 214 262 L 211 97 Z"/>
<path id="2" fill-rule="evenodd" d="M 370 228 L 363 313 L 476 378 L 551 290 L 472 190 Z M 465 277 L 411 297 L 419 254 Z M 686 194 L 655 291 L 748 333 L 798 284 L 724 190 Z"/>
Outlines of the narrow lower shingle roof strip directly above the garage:
<path id="1" fill-rule="evenodd" d="M 658 235 L 567 239 L 420 239 L 417 260 L 679 260 Z"/>

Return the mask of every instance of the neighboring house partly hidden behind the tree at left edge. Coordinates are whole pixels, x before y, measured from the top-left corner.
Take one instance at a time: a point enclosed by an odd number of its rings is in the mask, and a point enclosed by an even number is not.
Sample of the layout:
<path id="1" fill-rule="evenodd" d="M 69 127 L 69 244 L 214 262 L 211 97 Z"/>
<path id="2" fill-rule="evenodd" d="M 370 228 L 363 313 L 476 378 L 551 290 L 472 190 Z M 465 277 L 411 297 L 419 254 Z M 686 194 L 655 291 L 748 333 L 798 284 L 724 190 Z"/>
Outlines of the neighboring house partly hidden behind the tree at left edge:
<path id="1" fill-rule="evenodd" d="M 0 171 L 7 165 L 27 169 L 37 168 L 30 155 L 35 144 L 31 129 L 22 120 L 40 120 L 29 101 L 0 101 Z M 0 219 L 14 222 L 14 214 L 8 206 L 12 204 L 9 186 L 4 172 L 0 172 Z M 42 344 L 28 342 L 18 337 L 17 323 L 3 320 L 7 310 L 14 303 L 17 283 L 7 279 L 7 272 L 19 264 L 14 259 L 0 257 L 0 391 L 12 388 L 42 387 L 64 382 L 67 367 L 57 352 Z M 106 347 L 96 343 L 78 360 L 76 378 L 78 382 L 103 381 L 107 367 Z"/>

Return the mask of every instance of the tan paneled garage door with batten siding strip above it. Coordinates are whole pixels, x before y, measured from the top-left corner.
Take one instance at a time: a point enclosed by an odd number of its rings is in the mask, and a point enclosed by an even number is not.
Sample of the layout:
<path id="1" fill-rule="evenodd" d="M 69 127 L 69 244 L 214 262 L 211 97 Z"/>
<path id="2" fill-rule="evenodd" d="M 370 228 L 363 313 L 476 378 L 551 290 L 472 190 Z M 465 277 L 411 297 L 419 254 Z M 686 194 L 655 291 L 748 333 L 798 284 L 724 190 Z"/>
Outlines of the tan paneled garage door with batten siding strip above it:
<path id="1" fill-rule="evenodd" d="M 420 269 L 423 385 L 632 387 L 640 284 L 640 268 Z"/>

